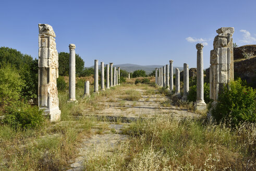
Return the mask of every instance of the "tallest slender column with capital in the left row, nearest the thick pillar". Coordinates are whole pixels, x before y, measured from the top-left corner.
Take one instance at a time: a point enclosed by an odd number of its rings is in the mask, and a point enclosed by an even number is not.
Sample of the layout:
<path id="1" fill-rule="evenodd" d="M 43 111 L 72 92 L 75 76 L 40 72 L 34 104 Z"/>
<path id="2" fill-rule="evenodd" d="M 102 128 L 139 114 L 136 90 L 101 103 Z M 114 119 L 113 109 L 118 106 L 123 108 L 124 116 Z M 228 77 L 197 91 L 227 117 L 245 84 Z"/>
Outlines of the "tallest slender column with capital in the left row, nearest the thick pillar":
<path id="1" fill-rule="evenodd" d="M 76 53 L 75 44 L 69 44 L 69 99 L 68 102 L 76 100 Z"/>

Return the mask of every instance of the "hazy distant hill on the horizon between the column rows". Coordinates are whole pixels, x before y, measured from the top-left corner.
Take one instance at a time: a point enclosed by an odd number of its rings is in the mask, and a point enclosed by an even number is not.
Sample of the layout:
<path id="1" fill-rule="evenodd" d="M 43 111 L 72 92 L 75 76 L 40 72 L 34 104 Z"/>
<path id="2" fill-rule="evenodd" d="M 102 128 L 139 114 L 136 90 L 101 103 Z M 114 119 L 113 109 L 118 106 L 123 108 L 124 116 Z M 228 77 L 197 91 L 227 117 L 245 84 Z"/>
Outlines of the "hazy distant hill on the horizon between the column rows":
<path id="1" fill-rule="evenodd" d="M 146 71 L 146 74 L 150 74 L 155 68 L 163 67 L 162 65 L 136 65 L 136 64 L 120 64 L 120 65 L 113 65 L 114 67 L 121 67 L 121 69 L 126 70 L 127 72 L 133 72 L 136 70 L 144 70 Z M 94 66 L 91 66 L 94 67 Z M 99 67 L 100 68 L 100 67 Z M 183 70 L 183 67 L 173 67 L 174 74 L 175 74 L 175 68 L 179 68 L 180 71 Z"/>

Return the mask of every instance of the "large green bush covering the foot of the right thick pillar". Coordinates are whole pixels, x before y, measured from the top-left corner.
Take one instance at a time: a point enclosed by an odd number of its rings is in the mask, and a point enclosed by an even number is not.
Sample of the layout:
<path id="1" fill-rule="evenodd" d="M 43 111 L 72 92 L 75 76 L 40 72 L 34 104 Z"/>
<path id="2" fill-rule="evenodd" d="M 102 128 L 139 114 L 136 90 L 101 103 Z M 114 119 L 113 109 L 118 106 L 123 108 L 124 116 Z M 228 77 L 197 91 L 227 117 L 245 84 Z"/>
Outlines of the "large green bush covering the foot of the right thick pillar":
<path id="1" fill-rule="evenodd" d="M 218 103 L 212 111 L 216 121 L 228 120 L 233 126 L 256 121 L 256 90 L 243 84 L 239 78 L 230 82 L 230 90 L 224 87 L 218 94 Z"/>

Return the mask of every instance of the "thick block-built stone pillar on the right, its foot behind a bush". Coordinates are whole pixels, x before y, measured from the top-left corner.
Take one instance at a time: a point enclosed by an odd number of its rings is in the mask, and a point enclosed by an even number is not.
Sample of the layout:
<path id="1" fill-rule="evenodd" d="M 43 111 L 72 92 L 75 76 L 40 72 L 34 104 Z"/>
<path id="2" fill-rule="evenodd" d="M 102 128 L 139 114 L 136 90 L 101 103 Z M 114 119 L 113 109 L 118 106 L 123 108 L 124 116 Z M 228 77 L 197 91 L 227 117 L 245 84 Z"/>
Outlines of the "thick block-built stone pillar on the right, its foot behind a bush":
<path id="1" fill-rule="evenodd" d="M 212 106 L 218 100 L 218 92 L 234 80 L 233 27 L 222 27 L 216 30 L 218 35 L 213 42 L 210 54 L 210 98 Z"/>

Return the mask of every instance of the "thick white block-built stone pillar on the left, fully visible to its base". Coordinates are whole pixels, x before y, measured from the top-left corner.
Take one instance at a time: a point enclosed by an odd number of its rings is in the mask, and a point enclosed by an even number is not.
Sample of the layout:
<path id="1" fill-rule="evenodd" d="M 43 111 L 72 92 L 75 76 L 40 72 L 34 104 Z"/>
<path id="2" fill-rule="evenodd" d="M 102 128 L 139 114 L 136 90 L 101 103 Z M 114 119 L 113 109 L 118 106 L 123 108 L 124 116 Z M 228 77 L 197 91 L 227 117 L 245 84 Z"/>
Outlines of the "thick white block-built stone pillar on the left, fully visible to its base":
<path id="1" fill-rule="evenodd" d="M 50 115 L 51 121 L 60 119 L 58 90 L 58 52 L 52 26 L 39 24 L 38 106 Z"/>

